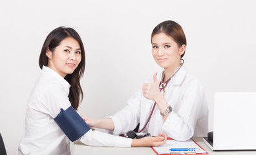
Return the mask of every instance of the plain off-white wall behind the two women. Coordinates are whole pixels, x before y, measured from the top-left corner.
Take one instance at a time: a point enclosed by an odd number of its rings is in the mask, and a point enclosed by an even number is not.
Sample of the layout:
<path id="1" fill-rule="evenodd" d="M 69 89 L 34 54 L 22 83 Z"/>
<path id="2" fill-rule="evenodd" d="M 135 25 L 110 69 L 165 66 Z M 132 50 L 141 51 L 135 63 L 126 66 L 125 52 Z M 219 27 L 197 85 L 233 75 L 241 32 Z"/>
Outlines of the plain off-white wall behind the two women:
<path id="1" fill-rule="evenodd" d="M 25 136 L 27 99 L 39 76 L 43 41 L 70 26 L 85 45 L 79 113 L 111 116 L 162 68 L 151 32 L 171 19 L 187 37 L 185 65 L 204 85 L 213 130 L 215 92 L 255 92 L 255 1 L 1 1 L 0 132 L 8 154 Z"/>

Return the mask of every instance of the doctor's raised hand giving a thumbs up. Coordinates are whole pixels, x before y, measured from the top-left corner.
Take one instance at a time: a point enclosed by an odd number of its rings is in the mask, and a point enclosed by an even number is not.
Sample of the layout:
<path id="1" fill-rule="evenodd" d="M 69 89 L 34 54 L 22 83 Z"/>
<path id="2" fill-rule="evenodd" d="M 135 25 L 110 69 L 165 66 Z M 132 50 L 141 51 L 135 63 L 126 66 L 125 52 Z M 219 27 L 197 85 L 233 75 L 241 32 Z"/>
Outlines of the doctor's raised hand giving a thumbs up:
<path id="1" fill-rule="evenodd" d="M 162 96 L 160 90 L 159 90 L 159 82 L 156 79 L 156 74 L 154 74 L 153 79 L 154 79 L 154 83 L 144 83 L 143 87 L 142 87 L 142 93 L 143 96 L 147 99 L 151 99 L 156 101 L 156 99 L 159 96 Z"/>

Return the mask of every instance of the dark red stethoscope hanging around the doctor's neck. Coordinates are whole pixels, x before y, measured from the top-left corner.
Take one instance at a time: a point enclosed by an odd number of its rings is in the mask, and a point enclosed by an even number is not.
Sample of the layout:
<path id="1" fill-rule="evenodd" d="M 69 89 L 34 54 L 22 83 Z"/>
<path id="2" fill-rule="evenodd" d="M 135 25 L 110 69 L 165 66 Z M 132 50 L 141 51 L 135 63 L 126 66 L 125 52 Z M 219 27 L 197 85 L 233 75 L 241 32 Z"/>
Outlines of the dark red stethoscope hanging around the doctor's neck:
<path id="1" fill-rule="evenodd" d="M 160 82 L 160 84 L 159 84 L 159 89 L 160 89 L 160 91 L 164 90 L 164 88 L 167 87 L 169 81 L 171 81 L 171 78 L 173 78 L 173 76 L 175 76 L 176 72 L 178 72 L 178 70 L 180 70 L 180 68 L 181 68 L 182 65 L 184 64 L 184 59 L 180 59 L 180 60 L 182 61 L 182 62 L 180 63 L 180 67 L 178 67 L 178 69 L 173 73 L 173 75 L 172 75 L 167 81 L 165 81 L 165 83 L 163 83 L 163 80 L 164 80 L 164 76 L 163 76 L 163 78 L 162 78 L 162 80 L 161 80 L 161 82 Z M 161 85 L 162 85 L 162 87 L 161 87 Z M 149 119 L 151 118 L 155 107 L 156 107 L 156 102 L 155 102 L 154 105 L 153 105 L 153 108 L 152 108 L 152 110 L 151 110 L 151 112 L 150 112 L 150 114 L 149 114 L 149 118 L 147 118 L 147 121 L 146 121 L 145 125 L 144 125 L 144 126 L 142 127 L 142 129 L 140 129 L 137 133 L 140 133 L 140 132 L 142 132 L 142 130 L 145 129 L 145 127 L 147 126 L 147 123 L 149 123 Z"/>

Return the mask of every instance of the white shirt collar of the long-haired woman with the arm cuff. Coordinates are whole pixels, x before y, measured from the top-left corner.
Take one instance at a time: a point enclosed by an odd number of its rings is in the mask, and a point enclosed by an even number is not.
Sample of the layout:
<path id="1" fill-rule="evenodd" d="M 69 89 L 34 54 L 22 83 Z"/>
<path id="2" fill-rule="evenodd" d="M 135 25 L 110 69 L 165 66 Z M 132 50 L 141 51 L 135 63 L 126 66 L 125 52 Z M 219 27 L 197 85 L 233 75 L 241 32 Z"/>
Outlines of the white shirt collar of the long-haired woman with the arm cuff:
<path id="1" fill-rule="evenodd" d="M 62 85 L 63 88 L 65 88 L 65 90 L 69 90 L 69 82 L 62 78 L 57 72 L 46 66 L 43 66 L 42 72 L 50 74 L 59 81 L 59 83 Z"/>

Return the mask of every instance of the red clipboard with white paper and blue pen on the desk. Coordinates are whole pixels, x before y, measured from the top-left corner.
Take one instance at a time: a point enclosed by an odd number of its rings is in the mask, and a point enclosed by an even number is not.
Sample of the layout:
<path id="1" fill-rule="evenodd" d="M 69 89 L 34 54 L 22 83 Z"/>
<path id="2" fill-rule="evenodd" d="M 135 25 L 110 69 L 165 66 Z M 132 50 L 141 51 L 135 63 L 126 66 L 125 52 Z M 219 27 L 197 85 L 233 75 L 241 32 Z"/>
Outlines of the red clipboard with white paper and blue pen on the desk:
<path id="1" fill-rule="evenodd" d="M 185 148 L 189 148 L 189 147 L 191 148 L 191 145 L 193 145 L 193 146 L 196 146 L 197 148 L 199 148 L 201 150 L 200 153 L 196 153 L 196 152 L 183 152 L 183 153 L 182 152 L 176 152 L 175 154 L 186 154 L 186 155 L 188 155 L 188 154 L 209 154 L 208 152 L 206 152 L 206 150 L 204 150 L 202 147 L 200 147 L 200 145 L 198 145 L 198 143 L 195 142 L 193 139 L 189 139 L 187 141 L 175 141 L 175 139 L 167 138 L 167 141 L 169 141 L 170 143 L 166 142 L 164 145 L 161 145 L 159 147 L 151 147 L 151 148 L 154 150 L 154 152 L 157 155 L 170 155 L 171 150 L 169 150 L 169 149 L 173 149 L 173 148 L 171 148 L 173 146 L 173 144 L 175 144 L 175 147 L 180 145 L 180 144 L 186 145 Z M 189 144 L 189 145 L 187 145 L 187 144 Z M 164 148 L 165 151 L 164 152 L 159 151 L 160 147 Z M 184 146 L 183 147 L 178 147 L 178 148 L 184 148 Z M 169 150 L 169 151 L 167 151 L 167 150 Z M 174 153 L 172 153 L 172 154 L 174 154 Z"/>

